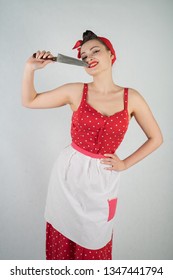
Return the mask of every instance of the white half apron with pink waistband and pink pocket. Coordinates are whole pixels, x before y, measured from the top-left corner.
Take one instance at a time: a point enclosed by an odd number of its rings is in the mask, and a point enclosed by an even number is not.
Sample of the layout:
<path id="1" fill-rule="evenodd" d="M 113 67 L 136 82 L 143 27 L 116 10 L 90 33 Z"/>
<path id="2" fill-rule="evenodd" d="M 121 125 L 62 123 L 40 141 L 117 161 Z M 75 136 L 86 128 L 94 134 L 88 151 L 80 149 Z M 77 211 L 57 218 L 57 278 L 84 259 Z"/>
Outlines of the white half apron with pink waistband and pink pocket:
<path id="1" fill-rule="evenodd" d="M 49 181 L 47 232 L 51 227 L 88 250 L 102 249 L 113 234 L 120 172 L 106 170 L 103 157 L 69 145 L 55 161 Z"/>

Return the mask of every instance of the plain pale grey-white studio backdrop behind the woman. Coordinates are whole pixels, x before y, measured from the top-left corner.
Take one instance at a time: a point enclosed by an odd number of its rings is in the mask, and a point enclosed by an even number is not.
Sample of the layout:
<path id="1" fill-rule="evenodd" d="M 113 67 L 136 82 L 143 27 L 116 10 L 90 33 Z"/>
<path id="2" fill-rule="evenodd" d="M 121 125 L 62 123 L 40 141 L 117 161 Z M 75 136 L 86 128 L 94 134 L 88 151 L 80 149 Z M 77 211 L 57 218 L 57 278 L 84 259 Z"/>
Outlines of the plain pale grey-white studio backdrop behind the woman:
<path id="1" fill-rule="evenodd" d="M 21 105 L 26 59 L 38 49 L 76 57 L 86 29 L 108 37 L 117 53 L 115 83 L 148 102 L 164 144 L 122 173 L 114 259 L 172 259 L 172 25 L 170 0 L 0 0 L 0 259 L 44 259 L 44 207 L 53 163 L 70 143 L 68 107 Z M 89 82 L 80 67 L 36 72 L 38 92 Z M 134 120 L 118 150 L 123 158 L 146 138 Z"/>

